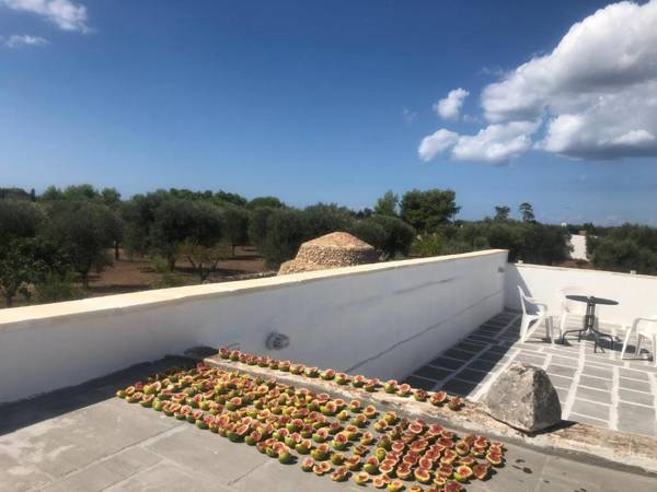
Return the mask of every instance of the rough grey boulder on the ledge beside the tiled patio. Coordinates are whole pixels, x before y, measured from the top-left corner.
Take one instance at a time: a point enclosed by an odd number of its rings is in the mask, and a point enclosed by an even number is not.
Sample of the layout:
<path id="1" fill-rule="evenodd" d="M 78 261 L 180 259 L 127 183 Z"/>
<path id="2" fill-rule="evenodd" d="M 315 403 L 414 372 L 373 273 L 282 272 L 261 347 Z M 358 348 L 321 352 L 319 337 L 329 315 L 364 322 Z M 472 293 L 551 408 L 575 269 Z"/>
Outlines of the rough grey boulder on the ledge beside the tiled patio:
<path id="1" fill-rule="evenodd" d="M 537 432 L 561 422 L 558 395 L 545 371 L 512 363 L 484 399 L 488 414 L 519 431 Z"/>

